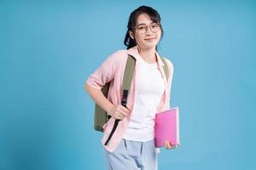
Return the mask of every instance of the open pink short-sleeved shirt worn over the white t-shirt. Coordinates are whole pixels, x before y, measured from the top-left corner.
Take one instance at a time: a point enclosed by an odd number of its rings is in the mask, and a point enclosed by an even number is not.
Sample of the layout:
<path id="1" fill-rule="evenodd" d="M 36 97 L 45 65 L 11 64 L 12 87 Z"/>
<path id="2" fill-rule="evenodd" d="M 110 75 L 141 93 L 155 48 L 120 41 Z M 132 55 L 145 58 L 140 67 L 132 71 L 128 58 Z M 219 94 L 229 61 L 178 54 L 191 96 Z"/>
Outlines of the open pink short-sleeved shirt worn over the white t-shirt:
<path id="1" fill-rule="evenodd" d="M 137 46 L 130 49 L 119 50 L 113 54 L 111 54 L 108 59 L 106 59 L 102 65 L 96 69 L 96 71 L 90 75 L 87 79 L 86 83 L 93 88 L 101 89 L 106 82 L 110 82 L 110 87 L 108 91 L 108 100 L 113 103 L 113 105 L 121 104 L 121 94 L 122 94 L 122 83 L 125 72 L 125 64 L 128 54 L 131 54 L 135 59 L 138 59 L 140 54 L 138 54 Z M 171 94 L 171 86 L 172 86 L 172 75 L 173 75 L 173 65 L 169 59 L 166 59 L 168 70 L 169 70 L 169 78 L 168 82 L 166 82 L 166 75 L 163 70 L 163 62 L 160 59 L 159 54 L 155 51 L 157 56 L 157 66 L 161 73 L 161 77 L 165 82 L 165 92 L 160 99 L 160 103 L 157 107 L 157 112 L 166 111 L 170 108 L 170 94 Z M 137 82 L 140 80 L 137 79 L 137 75 L 139 74 L 139 62 L 135 65 L 135 71 L 131 80 L 131 90 L 127 99 L 127 107 L 131 110 L 133 109 L 133 105 L 135 99 L 137 97 Z M 154 82 L 152 82 L 154 83 Z M 104 126 L 104 135 L 102 138 L 102 144 L 106 148 L 106 150 L 113 152 L 115 148 L 118 146 L 119 142 L 123 138 L 125 134 L 125 130 L 128 127 L 131 116 L 126 116 L 122 121 L 119 122 L 116 131 L 113 133 L 112 138 L 108 142 L 108 145 L 104 145 L 106 140 L 108 139 L 109 133 L 113 128 L 114 118 L 111 118 Z"/>

